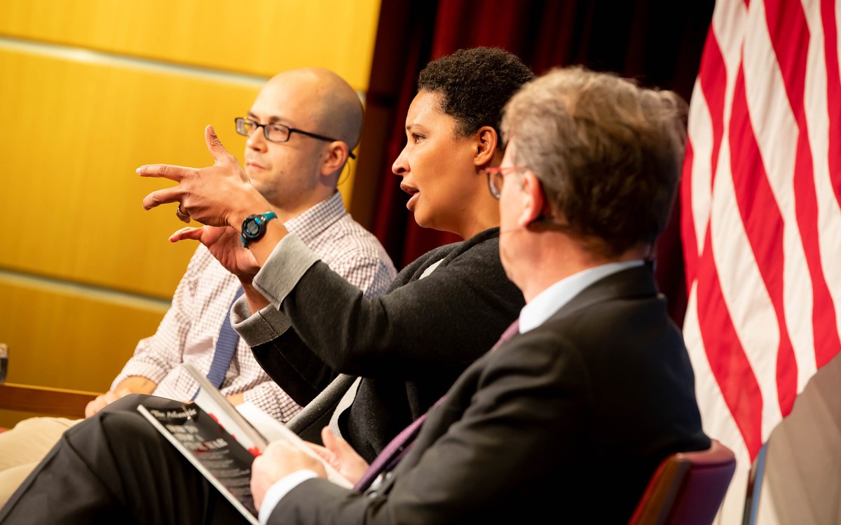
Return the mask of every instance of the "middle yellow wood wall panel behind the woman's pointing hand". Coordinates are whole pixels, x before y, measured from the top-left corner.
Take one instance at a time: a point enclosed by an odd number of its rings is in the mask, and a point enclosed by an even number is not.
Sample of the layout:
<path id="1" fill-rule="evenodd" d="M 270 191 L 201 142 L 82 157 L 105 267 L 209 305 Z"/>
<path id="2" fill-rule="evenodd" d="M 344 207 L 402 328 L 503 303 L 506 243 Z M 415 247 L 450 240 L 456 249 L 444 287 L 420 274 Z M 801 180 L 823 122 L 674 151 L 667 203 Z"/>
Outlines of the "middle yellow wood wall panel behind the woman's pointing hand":
<path id="1" fill-rule="evenodd" d="M 135 168 L 211 164 L 208 123 L 242 158 L 233 119 L 260 83 L 3 49 L 0 63 L 0 268 L 168 300 L 196 244 L 168 242 L 183 226 L 175 206 L 141 202 L 172 182 Z"/>

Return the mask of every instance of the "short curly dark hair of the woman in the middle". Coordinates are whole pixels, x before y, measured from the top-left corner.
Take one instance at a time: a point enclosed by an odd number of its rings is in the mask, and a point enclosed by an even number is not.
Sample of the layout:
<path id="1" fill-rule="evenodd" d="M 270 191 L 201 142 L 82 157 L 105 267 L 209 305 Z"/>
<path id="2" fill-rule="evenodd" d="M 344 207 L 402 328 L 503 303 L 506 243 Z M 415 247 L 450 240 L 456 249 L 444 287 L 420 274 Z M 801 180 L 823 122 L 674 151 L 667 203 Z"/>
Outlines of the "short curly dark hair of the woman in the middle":
<path id="1" fill-rule="evenodd" d="M 474 47 L 432 60 L 418 77 L 418 91 L 442 94 L 442 111 L 458 121 L 456 133 L 467 137 L 482 126 L 500 134 L 505 102 L 534 72 L 498 47 Z"/>

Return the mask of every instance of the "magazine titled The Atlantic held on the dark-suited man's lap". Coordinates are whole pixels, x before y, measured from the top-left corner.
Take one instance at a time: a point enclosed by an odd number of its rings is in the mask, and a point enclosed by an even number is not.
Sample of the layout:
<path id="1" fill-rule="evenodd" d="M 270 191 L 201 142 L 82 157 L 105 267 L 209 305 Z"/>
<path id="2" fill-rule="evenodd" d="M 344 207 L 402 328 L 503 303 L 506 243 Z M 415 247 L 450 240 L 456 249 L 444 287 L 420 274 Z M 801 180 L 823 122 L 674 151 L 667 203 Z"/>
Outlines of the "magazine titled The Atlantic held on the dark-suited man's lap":
<path id="1" fill-rule="evenodd" d="M 184 367 L 198 383 L 192 403 L 184 404 L 180 410 L 143 406 L 137 410 L 249 521 L 257 524 L 257 509 L 251 496 L 251 462 L 270 441 L 284 440 L 294 445 L 324 465 L 327 479 L 353 487 L 283 423 L 252 403 L 235 407 L 193 365 L 187 363 Z"/>

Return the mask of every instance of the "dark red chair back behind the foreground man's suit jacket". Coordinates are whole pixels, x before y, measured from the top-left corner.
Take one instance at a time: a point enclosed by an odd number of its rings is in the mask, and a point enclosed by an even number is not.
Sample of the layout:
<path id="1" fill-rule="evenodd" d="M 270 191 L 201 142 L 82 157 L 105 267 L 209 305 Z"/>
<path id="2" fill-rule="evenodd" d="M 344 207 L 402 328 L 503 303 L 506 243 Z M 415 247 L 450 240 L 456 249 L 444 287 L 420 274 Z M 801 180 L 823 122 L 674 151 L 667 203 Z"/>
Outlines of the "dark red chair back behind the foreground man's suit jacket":
<path id="1" fill-rule="evenodd" d="M 648 481 L 629 525 L 710 525 L 721 507 L 736 456 L 716 439 L 709 449 L 672 454 Z"/>

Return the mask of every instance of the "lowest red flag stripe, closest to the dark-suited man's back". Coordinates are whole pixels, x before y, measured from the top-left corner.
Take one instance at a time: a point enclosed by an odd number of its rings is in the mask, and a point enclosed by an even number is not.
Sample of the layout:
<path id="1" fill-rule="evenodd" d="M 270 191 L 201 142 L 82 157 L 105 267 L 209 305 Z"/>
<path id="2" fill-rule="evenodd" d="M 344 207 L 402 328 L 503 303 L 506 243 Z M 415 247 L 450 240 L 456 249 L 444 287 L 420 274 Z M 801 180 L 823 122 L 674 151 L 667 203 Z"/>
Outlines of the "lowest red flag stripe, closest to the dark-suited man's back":
<path id="1" fill-rule="evenodd" d="M 753 460 L 762 447 L 762 393 L 754 370 L 739 343 L 718 281 L 712 257 L 710 228 L 698 265 L 698 323 L 712 375 Z"/>

